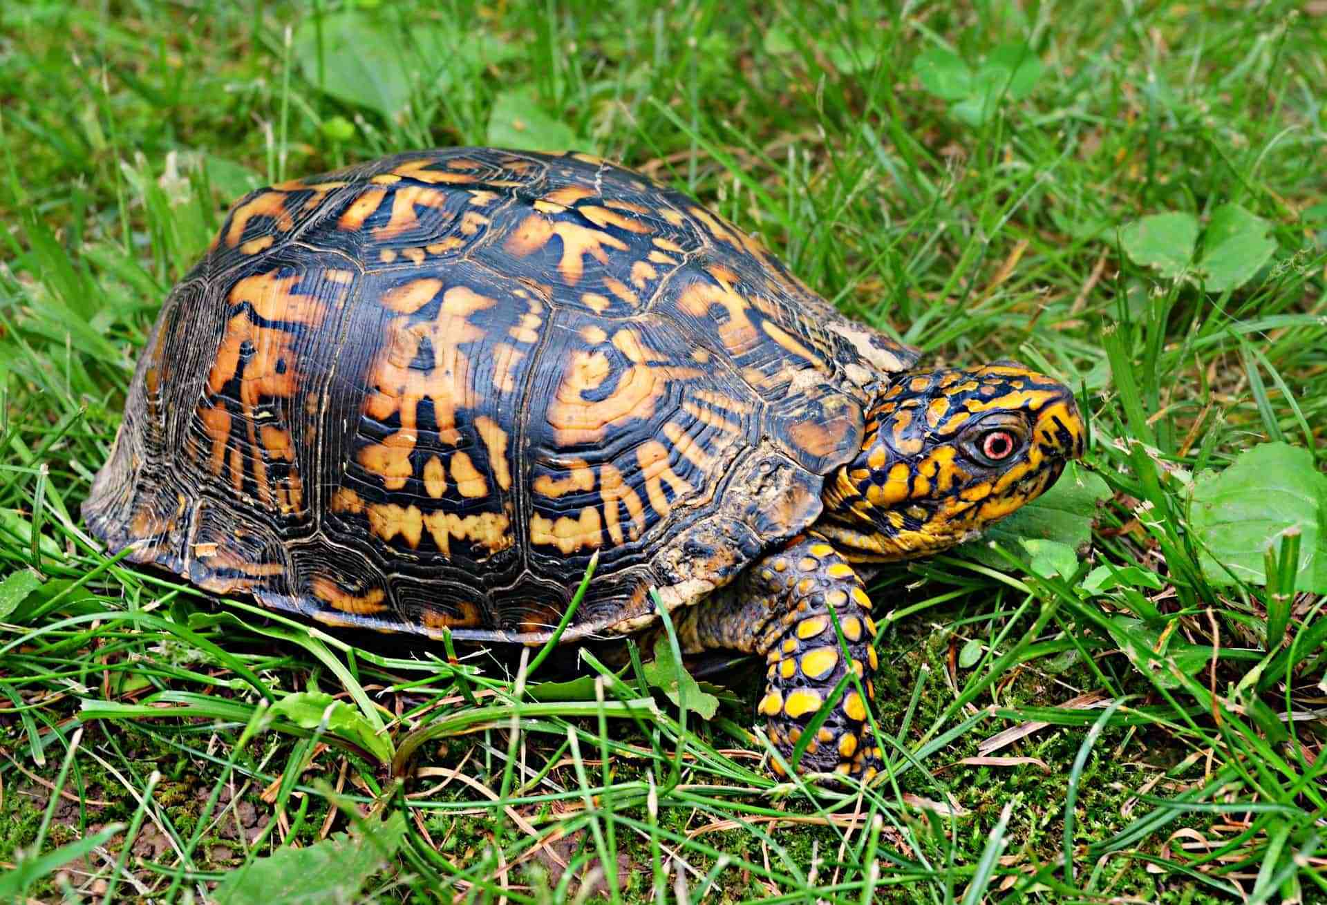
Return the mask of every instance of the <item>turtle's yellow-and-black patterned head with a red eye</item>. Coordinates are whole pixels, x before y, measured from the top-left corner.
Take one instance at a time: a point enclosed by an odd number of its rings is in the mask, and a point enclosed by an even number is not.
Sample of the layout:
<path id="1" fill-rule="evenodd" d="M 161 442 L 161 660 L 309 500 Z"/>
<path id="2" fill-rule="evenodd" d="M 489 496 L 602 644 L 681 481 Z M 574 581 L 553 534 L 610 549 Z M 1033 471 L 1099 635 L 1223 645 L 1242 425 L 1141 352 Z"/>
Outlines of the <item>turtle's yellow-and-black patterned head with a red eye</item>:
<path id="1" fill-rule="evenodd" d="M 816 531 L 859 560 L 942 551 L 1040 496 L 1084 433 L 1072 391 L 1020 365 L 898 374 L 827 482 Z"/>

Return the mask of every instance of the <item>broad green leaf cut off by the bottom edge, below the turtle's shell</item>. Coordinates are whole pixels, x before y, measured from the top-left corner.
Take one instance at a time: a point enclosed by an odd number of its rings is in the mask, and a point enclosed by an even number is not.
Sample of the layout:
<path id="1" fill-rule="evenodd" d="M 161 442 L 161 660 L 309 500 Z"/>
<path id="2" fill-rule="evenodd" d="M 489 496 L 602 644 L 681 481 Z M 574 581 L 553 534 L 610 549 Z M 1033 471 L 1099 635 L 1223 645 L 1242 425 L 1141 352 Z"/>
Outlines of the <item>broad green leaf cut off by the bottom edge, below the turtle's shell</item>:
<path id="1" fill-rule="evenodd" d="M 406 821 L 399 813 L 370 820 L 348 836 L 336 833 L 305 848 L 279 848 L 226 874 L 216 905 L 322 905 L 357 902 L 365 881 L 401 848 Z"/>

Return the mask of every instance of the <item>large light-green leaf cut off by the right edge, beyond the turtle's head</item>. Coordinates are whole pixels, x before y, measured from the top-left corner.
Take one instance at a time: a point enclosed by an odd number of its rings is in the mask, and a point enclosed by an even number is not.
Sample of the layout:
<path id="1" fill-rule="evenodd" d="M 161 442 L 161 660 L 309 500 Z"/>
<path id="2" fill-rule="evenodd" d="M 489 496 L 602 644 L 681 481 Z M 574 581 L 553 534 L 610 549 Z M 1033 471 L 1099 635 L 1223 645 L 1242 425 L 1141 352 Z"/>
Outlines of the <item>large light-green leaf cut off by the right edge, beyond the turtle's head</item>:
<path id="1" fill-rule="evenodd" d="M 1262 443 L 1225 471 L 1198 475 L 1189 523 L 1202 544 L 1202 572 L 1216 585 L 1266 584 L 1263 551 L 1299 528 L 1295 587 L 1327 593 L 1327 475 L 1308 450 Z"/>

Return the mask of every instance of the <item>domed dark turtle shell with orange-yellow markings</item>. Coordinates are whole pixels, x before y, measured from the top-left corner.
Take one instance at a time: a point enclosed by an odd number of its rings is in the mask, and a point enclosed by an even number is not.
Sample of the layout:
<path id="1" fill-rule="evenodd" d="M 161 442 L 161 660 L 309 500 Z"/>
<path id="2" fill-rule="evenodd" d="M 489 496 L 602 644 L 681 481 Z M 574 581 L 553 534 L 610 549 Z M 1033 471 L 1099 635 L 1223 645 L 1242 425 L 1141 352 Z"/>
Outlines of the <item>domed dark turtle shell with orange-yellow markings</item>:
<path id="1" fill-rule="evenodd" d="M 539 642 L 691 604 L 816 520 L 916 352 L 594 158 L 391 157 L 243 198 L 169 296 L 84 515 L 324 622 Z"/>

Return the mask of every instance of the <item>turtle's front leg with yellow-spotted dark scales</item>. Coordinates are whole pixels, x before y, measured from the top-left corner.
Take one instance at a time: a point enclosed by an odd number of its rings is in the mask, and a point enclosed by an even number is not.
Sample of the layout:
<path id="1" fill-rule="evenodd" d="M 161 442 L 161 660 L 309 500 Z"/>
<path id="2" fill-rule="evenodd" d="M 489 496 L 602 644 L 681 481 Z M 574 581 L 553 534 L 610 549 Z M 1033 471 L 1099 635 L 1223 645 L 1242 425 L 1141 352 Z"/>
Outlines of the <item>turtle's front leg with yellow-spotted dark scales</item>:
<path id="1" fill-rule="evenodd" d="M 825 541 L 795 539 L 754 563 L 714 604 L 686 612 L 679 640 L 691 650 L 727 648 L 766 656 L 768 681 L 759 713 L 767 719 L 770 740 L 788 763 L 807 723 L 849 669 L 861 677 L 868 697 L 874 697 L 871 598 L 852 565 Z M 839 620 L 847 656 L 829 610 Z M 849 681 L 816 738 L 807 743 L 798 770 L 871 779 L 881 758 L 873 742 L 867 702 Z M 782 774 L 778 762 L 772 767 Z"/>

